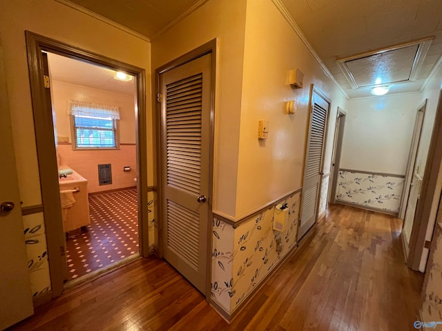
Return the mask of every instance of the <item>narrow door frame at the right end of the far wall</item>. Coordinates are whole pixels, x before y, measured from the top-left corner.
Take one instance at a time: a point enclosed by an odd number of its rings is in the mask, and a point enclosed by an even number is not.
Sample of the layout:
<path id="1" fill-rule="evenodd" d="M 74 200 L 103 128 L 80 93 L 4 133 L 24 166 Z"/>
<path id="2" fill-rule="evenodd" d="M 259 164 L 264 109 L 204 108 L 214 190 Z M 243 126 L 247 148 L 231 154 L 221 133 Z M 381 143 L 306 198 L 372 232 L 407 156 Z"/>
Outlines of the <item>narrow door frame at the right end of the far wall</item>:
<path id="1" fill-rule="evenodd" d="M 414 120 L 414 129 L 413 129 L 413 136 L 412 141 L 410 143 L 410 152 L 408 153 L 408 159 L 407 159 L 407 168 L 405 170 L 405 179 L 404 179 L 404 185 L 402 189 L 402 198 L 401 198 L 401 208 L 399 209 L 398 218 L 404 219 L 405 212 L 407 210 L 407 203 L 410 195 L 410 185 L 413 181 L 414 177 L 414 168 L 416 168 L 416 159 L 417 154 L 419 152 L 419 145 L 421 144 L 421 134 L 422 134 L 422 128 L 423 128 L 423 121 L 425 121 L 425 110 L 427 108 L 427 100 L 425 99 L 423 103 L 417 108 L 416 111 L 416 119 Z M 421 116 L 421 123 L 419 123 Z M 416 148 L 414 148 L 414 146 Z"/>

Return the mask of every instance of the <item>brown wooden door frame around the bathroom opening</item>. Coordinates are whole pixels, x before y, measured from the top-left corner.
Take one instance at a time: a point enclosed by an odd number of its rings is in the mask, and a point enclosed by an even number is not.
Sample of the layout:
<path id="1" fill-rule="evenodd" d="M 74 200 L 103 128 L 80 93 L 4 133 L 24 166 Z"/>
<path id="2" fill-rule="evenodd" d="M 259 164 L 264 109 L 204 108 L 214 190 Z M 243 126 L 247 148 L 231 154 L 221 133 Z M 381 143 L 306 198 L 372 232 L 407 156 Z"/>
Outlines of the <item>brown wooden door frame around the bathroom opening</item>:
<path id="1" fill-rule="evenodd" d="M 58 297 L 64 290 L 64 277 L 61 270 L 66 268 L 64 252 L 64 233 L 61 222 L 61 203 L 59 184 L 57 180 L 57 157 L 52 123 L 52 105 L 48 99 L 48 89 L 44 87 L 43 59 L 41 51 L 59 54 L 70 59 L 95 65 L 122 70 L 135 76 L 136 104 L 135 114 L 136 146 L 137 146 L 137 195 L 138 195 L 138 237 L 140 255 L 148 256 L 148 205 L 143 201 L 147 198 L 147 142 L 146 142 L 146 84 L 145 70 L 132 66 L 101 54 L 44 37 L 34 32 L 26 31 L 26 49 L 32 97 L 32 113 L 34 117 L 35 139 L 41 185 L 41 201 L 43 204 L 46 241 L 52 297 Z"/>

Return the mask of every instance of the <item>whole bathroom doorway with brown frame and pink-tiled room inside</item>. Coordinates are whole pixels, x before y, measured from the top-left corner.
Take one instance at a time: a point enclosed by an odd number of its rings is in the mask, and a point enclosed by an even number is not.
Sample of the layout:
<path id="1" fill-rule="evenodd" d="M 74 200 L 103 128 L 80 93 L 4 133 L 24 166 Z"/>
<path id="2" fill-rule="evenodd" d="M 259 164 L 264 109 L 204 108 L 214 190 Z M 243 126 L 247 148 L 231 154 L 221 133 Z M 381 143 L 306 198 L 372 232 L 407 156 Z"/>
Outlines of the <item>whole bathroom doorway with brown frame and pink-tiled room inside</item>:
<path id="1" fill-rule="evenodd" d="M 148 255 L 144 70 L 32 32 L 26 41 L 57 297 L 67 286 Z M 114 79 L 119 71 L 126 82 Z M 115 83 L 121 89 L 128 83 L 130 92 L 110 90 Z"/>

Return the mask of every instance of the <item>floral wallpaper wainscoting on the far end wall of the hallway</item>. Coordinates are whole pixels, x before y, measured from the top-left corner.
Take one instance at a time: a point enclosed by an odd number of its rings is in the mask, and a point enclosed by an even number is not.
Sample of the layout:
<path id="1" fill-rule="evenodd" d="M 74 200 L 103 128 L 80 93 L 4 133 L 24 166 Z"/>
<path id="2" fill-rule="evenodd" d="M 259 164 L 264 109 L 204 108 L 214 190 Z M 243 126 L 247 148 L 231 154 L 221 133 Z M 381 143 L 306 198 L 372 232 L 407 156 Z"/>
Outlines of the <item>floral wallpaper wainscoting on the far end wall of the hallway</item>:
<path id="1" fill-rule="evenodd" d="M 403 181 L 403 177 L 340 170 L 336 199 L 397 214 L 401 204 Z"/>

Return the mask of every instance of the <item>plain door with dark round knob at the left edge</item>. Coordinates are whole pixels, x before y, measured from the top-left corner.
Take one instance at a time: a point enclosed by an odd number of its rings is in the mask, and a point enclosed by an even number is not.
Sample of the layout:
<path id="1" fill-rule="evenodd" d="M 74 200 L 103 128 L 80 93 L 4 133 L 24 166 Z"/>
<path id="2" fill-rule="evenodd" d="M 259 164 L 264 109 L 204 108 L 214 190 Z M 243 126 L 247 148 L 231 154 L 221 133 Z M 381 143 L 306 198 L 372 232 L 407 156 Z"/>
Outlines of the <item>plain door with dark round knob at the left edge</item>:
<path id="1" fill-rule="evenodd" d="M 0 330 L 34 313 L 0 50 Z"/>

